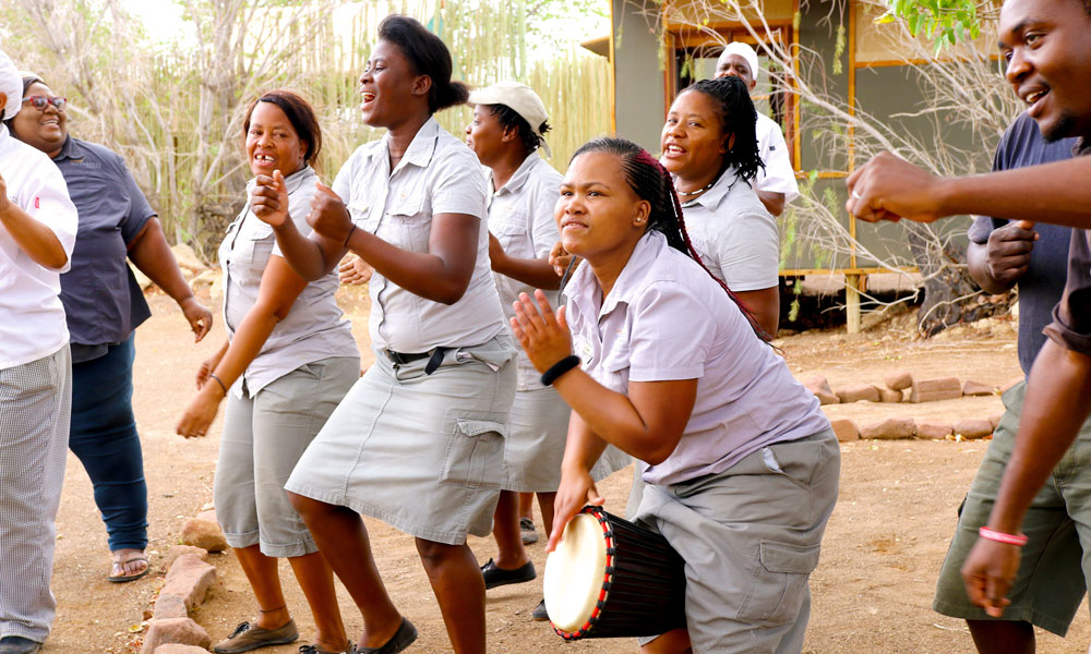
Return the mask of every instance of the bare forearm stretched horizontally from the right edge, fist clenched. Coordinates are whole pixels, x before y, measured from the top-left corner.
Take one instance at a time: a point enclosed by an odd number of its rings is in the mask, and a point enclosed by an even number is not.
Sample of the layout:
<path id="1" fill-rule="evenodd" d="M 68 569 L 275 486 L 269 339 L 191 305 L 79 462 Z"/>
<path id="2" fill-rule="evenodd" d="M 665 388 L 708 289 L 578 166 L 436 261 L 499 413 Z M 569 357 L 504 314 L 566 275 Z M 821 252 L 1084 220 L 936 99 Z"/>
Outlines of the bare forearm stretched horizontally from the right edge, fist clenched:
<path id="1" fill-rule="evenodd" d="M 1091 229 L 1091 157 L 948 178 L 936 184 L 939 214 L 978 215 Z M 1033 189 L 1033 193 L 1028 193 Z"/>

